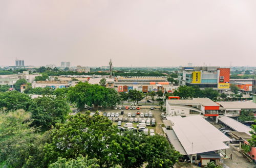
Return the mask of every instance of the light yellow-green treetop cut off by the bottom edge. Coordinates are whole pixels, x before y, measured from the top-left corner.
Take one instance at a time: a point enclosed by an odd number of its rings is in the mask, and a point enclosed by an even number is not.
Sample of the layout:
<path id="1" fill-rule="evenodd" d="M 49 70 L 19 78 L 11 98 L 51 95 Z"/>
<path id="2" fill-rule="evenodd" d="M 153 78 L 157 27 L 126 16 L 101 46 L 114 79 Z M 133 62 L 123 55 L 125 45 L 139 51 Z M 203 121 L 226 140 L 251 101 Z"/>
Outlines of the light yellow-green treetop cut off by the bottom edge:
<path id="1" fill-rule="evenodd" d="M 49 165 L 49 168 L 95 168 L 99 167 L 97 159 L 88 159 L 79 155 L 76 159 L 66 159 L 59 157 L 58 160 Z"/>

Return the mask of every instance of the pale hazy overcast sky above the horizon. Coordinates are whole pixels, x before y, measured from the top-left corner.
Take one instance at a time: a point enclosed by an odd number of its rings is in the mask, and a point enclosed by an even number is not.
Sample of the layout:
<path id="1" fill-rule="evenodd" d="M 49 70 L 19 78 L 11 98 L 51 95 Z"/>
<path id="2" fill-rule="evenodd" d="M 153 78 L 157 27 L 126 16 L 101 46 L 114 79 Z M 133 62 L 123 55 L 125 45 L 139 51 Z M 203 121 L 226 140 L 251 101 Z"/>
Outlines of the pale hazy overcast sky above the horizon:
<path id="1" fill-rule="evenodd" d="M 256 66 L 255 0 L 0 0 L 0 65 Z"/>

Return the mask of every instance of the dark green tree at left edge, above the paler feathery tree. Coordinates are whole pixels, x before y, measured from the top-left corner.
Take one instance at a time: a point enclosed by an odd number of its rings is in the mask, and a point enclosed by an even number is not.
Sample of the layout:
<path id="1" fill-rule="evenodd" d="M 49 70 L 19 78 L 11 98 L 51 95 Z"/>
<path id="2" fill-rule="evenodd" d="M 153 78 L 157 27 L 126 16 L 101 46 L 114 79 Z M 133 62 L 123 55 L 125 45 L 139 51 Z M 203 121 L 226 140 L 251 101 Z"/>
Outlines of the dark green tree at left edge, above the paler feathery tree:
<path id="1" fill-rule="evenodd" d="M 32 103 L 32 99 L 24 93 L 17 91 L 0 93 L 0 108 L 6 110 L 25 109 Z"/>

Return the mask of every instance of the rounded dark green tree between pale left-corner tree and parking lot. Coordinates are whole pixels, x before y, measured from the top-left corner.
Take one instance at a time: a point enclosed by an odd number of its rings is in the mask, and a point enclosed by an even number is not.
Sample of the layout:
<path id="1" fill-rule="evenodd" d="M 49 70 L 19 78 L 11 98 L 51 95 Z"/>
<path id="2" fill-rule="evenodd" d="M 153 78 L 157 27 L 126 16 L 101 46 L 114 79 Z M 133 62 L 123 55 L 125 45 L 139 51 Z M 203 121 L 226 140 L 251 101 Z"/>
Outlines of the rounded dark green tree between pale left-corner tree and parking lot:
<path id="1" fill-rule="evenodd" d="M 69 105 L 62 97 L 43 96 L 33 100 L 28 109 L 32 113 L 33 125 L 50 129 L 56 123 L 66 121 Z"/>

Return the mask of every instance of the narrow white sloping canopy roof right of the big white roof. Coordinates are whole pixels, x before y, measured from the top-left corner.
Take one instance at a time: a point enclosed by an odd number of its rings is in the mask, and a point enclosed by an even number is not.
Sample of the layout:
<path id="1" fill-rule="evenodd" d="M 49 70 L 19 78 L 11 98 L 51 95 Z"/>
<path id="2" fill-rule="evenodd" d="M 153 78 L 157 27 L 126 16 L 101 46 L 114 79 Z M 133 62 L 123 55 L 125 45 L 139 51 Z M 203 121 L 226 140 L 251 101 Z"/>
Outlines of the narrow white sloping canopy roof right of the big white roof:
<path id="1" fill-rule="evenodd" d="M 223 122 L 225 125 L 227 125 L 228 127 L 232 128 L 233 130 L 235 131 L 238 131 L 238 132 L 245 132 L 247 133 L 248 135 L 251 135 L 249 133 L 249 131 L 252 131 L 252 129 L 250 127 L 247 127 L 246 125 L 240 123 L 239 121 L 237 120 L 234 120 L 234 119 L 231 119 L 229 117 L 220 117 L 219 120 L 221 122 Z"/>

